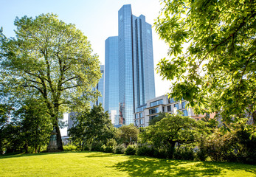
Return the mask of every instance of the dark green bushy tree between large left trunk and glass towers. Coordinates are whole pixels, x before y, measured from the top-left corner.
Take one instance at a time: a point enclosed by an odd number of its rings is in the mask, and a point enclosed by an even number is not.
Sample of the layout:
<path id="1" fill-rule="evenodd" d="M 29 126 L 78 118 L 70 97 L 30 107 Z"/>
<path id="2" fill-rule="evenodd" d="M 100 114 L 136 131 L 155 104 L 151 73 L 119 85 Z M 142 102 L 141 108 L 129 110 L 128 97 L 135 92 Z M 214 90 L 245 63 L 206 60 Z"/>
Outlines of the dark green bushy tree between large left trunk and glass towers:
<path id="1" fill-rule="evenodd" d="M 114 125 L 101 104 L 94 105 L 91 111 L 77 113 L 74 120 L 75 124 L 69 129 L 69 136 L 80 145 L 81 150 L 93 141 L 106 143 L 114 136 Z"/>

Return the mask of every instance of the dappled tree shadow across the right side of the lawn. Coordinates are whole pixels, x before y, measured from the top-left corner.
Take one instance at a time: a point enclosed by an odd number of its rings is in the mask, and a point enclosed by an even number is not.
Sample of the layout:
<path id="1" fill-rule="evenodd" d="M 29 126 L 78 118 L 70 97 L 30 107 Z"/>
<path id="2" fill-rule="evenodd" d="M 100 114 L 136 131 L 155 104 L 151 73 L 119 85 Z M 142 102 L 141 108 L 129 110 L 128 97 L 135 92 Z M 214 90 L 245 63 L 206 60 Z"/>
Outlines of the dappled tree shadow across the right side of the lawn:
<path id="1" fill-rule="evenodd" d="M 112 166 L 130 176 L 219 176 L 226 169 L 246 170 L 256 173 L 255 166 L 235 163 L 193 162 L 131 156 L 125 162 Z"/>

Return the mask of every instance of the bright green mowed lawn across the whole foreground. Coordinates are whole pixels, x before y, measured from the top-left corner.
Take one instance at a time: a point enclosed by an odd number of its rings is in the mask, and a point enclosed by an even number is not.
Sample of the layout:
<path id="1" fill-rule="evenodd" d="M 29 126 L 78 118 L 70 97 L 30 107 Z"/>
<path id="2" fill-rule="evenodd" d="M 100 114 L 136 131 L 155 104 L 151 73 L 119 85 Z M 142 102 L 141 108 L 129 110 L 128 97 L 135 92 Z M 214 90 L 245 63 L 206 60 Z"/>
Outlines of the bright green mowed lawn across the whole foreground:
<path id="1" fill-rule="evenodd" d="M 124 156 L 100 152 L 0 157 L 0 176 L 256 176 L 256 166 Z"/>

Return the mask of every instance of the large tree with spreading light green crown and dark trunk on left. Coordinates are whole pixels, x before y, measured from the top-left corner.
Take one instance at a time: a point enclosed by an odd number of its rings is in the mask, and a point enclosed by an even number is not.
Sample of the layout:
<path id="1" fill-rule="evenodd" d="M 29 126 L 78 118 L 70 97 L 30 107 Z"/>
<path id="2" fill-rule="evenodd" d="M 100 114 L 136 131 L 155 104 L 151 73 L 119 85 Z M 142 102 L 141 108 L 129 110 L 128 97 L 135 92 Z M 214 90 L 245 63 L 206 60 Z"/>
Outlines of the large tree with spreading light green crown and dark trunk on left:
<path id="1" fill-rule="evenodd" d="M 80 111 L 97 97 L 93 88 L 101 77 L 97 55 L 87 37 L 57 15 L 16 18 L 15 38 L 0 30 L 1 89 L 8 98 L 40 98 L 57 131 L 63 150 L 58 119 L 63 111 Z"/>

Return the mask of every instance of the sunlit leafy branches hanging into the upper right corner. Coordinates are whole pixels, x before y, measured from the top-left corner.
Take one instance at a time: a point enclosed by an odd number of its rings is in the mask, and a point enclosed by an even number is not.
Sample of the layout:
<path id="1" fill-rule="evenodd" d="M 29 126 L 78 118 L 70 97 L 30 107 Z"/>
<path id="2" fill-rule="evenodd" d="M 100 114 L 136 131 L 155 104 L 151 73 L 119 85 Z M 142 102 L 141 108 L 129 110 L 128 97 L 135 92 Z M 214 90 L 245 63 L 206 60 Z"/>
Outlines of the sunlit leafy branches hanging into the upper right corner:
<path id="1" fill-rule="evenodd" d="M 170 46 L 158 72 L 173 82 L 171 97 L 198 112 L 256 120 L 255 0 L 165 0 L 155 23 Z M 187 44 L 187 46 L 186 46 Z"/>

